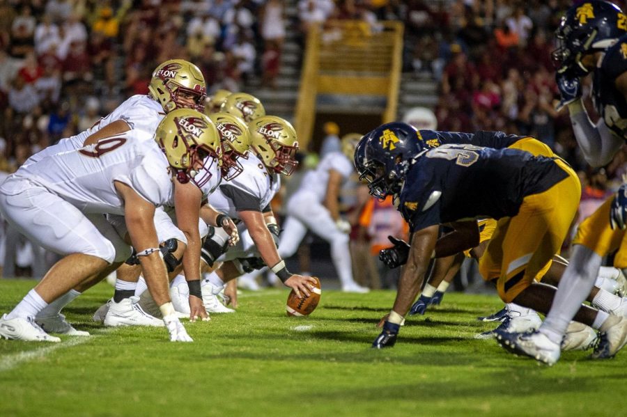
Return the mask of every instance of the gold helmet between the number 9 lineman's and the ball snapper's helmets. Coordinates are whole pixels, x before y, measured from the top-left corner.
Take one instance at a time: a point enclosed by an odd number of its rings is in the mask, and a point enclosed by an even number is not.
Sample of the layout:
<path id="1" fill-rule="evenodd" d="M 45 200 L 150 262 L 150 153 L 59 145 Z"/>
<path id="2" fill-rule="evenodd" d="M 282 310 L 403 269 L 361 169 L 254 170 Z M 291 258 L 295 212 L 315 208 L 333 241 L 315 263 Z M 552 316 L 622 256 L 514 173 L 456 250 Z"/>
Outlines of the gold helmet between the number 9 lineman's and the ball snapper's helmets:
<path id="1" fill-rule="evenodd" d="M 238 158 L 248 158 L 248 126 L 244 120 L 229 113 L 212 113 L 209 118 L 217 127 L 222 141 L 222 178 L 233 180 L 244 170 Z"/>

